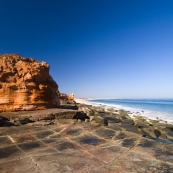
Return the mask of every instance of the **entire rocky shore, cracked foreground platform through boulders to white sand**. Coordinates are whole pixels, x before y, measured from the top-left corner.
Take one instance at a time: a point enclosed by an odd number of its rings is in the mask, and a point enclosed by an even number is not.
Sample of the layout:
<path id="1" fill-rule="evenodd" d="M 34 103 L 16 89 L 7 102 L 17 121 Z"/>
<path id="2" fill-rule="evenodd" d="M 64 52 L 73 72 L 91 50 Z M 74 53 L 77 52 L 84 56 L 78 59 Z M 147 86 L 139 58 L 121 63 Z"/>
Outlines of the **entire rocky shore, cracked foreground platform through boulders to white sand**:
<path id="1" fill-rule="evenodd" d="M 77 102 L 42 111 L 1 113 L 1 172 L 173 170 L 173 125 L 149 123 L 140 116 L 134 121 L 128 111 Z M 3 119 L 7 126 L 1 124 Z M 36 162 L 31 164 L 31 159 Z"/>

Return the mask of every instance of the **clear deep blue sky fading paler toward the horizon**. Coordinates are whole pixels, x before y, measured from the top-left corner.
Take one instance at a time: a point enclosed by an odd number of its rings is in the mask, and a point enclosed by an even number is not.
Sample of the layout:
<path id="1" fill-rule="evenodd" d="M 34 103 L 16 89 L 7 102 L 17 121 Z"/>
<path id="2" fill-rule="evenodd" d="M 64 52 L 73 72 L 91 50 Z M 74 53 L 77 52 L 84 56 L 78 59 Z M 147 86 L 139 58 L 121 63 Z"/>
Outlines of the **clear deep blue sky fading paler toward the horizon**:
<path id="1" fill-rule="evenodd" d="M 48 62 L 76 97 L 173 98 L 173 1 L 1 0 L 0 53 Z"/>

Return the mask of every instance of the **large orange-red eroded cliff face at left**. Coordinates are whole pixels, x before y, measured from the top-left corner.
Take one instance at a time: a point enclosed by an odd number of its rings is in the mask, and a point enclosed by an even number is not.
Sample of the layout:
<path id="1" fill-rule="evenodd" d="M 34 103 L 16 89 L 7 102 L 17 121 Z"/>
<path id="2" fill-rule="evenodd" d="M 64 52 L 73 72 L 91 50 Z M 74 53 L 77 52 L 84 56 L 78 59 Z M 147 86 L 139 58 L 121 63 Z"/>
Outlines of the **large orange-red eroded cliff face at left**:
<path id="1" fill-rule="evenodd" d="M 0 55 L 0 112 L 56 107 L 58 93 L 46 62 L 17 54 Z"/>

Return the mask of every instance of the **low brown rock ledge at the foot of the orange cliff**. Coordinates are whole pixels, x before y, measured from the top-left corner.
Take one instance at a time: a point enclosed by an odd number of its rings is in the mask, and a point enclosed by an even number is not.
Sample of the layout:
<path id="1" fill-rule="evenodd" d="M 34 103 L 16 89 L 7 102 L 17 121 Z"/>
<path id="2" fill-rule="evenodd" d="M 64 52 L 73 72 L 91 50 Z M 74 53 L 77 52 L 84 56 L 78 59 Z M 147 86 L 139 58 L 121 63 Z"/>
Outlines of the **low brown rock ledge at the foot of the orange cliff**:
<path id="1" fill-rule="evenodd" d="M 50 124 L 49 122 L 56 123 L 61 119 L 84 120 L 85 114 L 78 111 L 76 106 L 61 106 L 59 108 L 35 111 L 4 112 L 0 113 L 0 126 L 23 125 L 28 123 L 34 125 L 34 123 L 43 123 L 43 121 Z"/>

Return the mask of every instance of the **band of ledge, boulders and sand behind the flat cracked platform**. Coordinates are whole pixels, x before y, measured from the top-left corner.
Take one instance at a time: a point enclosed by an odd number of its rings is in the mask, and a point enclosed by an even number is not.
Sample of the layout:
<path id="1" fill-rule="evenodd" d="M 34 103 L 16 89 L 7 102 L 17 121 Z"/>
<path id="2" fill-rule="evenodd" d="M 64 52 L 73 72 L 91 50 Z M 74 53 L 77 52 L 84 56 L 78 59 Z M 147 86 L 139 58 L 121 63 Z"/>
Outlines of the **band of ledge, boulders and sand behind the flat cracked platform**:
<path id="1" fill-rule="evenodd" d="M 76 104 L 42 111 L 1 113 L 0 126 L 39 126 L 58 123 L 90 124 L 123 129 L 141 137 L 173 144 L 173 123 L 130 111 L 76 99 Z"/>

